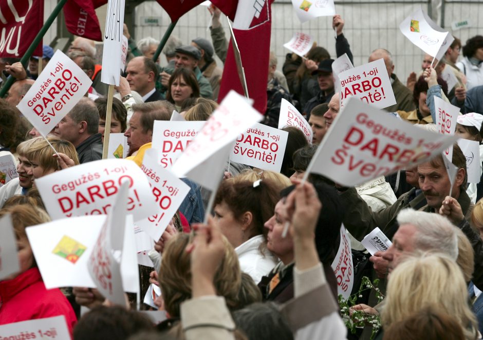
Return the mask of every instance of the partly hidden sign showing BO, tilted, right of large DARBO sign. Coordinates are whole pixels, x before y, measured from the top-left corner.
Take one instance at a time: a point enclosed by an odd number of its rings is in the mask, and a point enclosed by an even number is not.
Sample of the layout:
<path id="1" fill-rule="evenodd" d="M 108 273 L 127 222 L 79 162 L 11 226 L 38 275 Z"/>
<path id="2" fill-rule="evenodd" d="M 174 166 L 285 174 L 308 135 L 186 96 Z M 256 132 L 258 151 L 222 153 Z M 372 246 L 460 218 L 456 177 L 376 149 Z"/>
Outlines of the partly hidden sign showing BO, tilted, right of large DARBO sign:
<path id="1" fill-rule="evenodd" d="M 156 208 L 151 211 L 152 216 L 136 223 L 155 241 L 159 240 L 190 191 L 188 185 L 157 162 L 158 154 L 156 149 L 147 149 L 141 165 L 156 199 Z"/>

